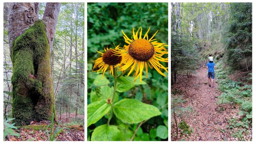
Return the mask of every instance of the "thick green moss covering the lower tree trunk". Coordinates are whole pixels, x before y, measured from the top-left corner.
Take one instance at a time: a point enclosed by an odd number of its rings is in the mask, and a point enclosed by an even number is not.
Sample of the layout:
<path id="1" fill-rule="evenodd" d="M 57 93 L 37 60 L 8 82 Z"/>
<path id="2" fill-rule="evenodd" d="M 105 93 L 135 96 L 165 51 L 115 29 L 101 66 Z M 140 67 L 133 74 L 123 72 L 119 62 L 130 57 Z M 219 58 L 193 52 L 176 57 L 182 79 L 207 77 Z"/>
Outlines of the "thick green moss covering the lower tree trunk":
<path id="1" fill-rule="evenodd" d="M 50 48 L 45 24 L 36 20 L 12 42 L 13 117 L 17 125 L 55 114 Z M 56 114 L 55 114 L 56 116 Z"/>

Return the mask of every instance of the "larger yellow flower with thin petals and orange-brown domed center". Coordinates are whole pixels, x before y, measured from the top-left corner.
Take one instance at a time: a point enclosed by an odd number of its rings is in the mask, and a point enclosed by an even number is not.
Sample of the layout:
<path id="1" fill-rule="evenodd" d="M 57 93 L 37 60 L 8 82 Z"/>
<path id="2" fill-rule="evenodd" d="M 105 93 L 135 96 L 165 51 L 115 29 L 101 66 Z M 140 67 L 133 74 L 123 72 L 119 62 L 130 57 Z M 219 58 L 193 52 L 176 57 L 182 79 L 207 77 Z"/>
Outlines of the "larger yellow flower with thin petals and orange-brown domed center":
<path id="1" fill-rule="evenodd" d="M 140 30 L 141 29 L 141 30 Z M 138 32 L 139 37 L 138 37 Z M 129 39 L 125 33 L 124 34 L 124 39 L 125 42 L 129 45 L 125 45 L 124 49 L 118 49 L 118 51 L 115 50 L 116 54 L 120 54 L 123 56 L 123 59 L 121 61 L 122 67 L 119 68 L 119 70 L 124 71 L 128 68 L 131 67 L 127 77 L 135 70 L 135 80 L 140 77 L 140 81 L 142 81 L 142 72 L 144 69 L 146 69 L 146 77 L 148 75 L 148 66 L 152 69 L 153 67 L 157 70 L 158 73 L 161 75 L 165 76 L 163 72 L 160 71 L 160 68 L 164 69 L 167 73 L 168 67 L 164 67 L 162 64 L 159 63 L 159 61 L 162 62 L 168 62 L 168 57 L 163 58 L 162 56 L 164 54 L 168 54 L 168 51 L 164 48 L 165 45 L 164 43 L 159 43 L 157 42 L 157 39 L 153 39 L 153 37 L 156 35 L 156 33 L 148 39 L 148 32 L 150 30 L 150 27 L 144 37 L 142 38 L 142 28 L 140 27 L 138 31 L 134 32 L 134 28 L 132 30 L 133 36 L 131 39 Z M 136 67 L 137 66 L 137 67 Z M 134 76 L 133 75 L 133 76 Z"/>

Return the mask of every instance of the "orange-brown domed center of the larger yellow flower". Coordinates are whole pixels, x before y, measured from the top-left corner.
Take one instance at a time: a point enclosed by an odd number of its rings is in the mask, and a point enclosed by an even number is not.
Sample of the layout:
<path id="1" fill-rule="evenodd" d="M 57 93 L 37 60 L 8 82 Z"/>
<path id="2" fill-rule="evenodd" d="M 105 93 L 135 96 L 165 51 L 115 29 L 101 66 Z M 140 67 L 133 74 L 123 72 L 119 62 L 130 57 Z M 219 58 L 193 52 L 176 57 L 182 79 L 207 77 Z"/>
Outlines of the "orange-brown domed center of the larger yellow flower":
<path id="1" fill-rule="evenodd" d="M 138 61 L 148 61 L 155 53 L 154 46 L 145 39 L 137 39 L 129 46 L 129 55 Z"/>

